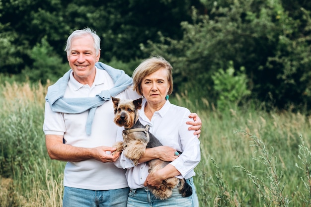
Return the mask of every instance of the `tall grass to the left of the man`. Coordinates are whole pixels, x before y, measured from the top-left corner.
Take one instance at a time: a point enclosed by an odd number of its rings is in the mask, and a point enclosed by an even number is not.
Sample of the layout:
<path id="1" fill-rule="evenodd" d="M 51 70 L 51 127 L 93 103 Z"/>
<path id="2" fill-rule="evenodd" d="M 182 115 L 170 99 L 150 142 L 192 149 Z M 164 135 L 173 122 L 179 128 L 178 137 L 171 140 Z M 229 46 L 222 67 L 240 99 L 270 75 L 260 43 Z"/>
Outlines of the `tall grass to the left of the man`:
<path id="1" fill-rule="evenodd" d="M 42 132 L 46 87 L 0 87 L 0 206 L 59 207 L 64 163 L 50 160 Z"/>

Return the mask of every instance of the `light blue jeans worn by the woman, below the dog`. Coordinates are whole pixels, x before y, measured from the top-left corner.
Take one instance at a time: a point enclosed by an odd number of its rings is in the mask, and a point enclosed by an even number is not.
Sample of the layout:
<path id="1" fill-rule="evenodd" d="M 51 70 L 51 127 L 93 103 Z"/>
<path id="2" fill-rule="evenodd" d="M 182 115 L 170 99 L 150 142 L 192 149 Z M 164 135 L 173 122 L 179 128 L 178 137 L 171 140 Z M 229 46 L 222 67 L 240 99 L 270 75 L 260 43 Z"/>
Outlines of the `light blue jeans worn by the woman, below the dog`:
<path id="1" fill-rule="evenodd" d="M 166 200 L 159 200 L 148 190 L 148 188 L 131 189 L 127 200 L 127 207 L 199 207 L 199 200 L 193 183 L 193 178 L 187 179 L 192 187 L 190 197 L 182 197 L 177 187 L 173 194 Z"/>

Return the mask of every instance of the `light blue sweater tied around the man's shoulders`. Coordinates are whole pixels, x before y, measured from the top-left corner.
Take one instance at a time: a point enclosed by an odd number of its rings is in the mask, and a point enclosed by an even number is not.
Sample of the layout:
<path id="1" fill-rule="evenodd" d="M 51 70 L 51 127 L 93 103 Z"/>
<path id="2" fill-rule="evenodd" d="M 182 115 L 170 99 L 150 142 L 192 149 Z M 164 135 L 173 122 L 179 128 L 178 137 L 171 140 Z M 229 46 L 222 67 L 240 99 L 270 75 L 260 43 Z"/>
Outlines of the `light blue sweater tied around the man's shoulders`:
<path id="1" fill-rule="evenodd" d="M 97 62 L 95 66 L 98 69 L 104 69 L 108 72 L 114 82 L 113 88 L 110 90 L 103 90 L 95 97 L 64 98 L 70 73 L 72 71 L 72 69 L 70 69 L 55 84 L 48 87 L 48 92 L 45 97 L 45 100 L 49 102 L 51 109 L 54 112 L 79 114 L 89 110 L 85 129 L 87 135 L 91 134 L 96 108 L 101 106 L 105 101 L 110 100 L 110 96 L 116 96 L 133 84 L 133 79 L 121 69 L 114 69 L 101 62 Z"/>

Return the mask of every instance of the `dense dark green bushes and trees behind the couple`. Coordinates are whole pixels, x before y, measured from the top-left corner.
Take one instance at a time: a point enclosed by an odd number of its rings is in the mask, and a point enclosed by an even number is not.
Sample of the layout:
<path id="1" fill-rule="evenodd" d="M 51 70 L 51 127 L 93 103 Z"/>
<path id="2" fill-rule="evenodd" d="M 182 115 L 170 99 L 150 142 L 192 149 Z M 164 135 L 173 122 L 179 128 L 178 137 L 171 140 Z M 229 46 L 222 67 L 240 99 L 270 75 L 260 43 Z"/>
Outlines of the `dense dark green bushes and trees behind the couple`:
<path id="1" fill-rule="evenodd" d="M 0 72 L 22 80 L 61 76 L 66 38 L 88 26 L 102 39 L 101 61 L 131 73 L 141 59 L 162 55 L 173 65 L 175 92 L 191 99 L 226 99 L 212 77 L 233 67 L 233 76 L 245 69 L 251 91 L 240 98 L 266 109 L 311 109 L 309 1 L 4 0 L 0 11 Z"/>

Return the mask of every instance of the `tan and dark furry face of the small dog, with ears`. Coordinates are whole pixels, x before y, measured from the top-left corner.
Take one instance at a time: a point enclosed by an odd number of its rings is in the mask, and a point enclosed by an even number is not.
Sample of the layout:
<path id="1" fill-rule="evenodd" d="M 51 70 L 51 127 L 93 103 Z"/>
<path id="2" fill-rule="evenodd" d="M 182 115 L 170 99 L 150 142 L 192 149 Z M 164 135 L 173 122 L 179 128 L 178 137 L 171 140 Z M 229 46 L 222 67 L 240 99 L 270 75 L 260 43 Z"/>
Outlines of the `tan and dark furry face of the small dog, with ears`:
<path id="1" fill-rule="evenodd" d="M 120 100 L 119 98 L 111 97 L 114 108 L 114 123 L 125 129 L 130 129 L 138 119 L 138 109 L 142 108 L 143 99 L 136 100 Z"/>

